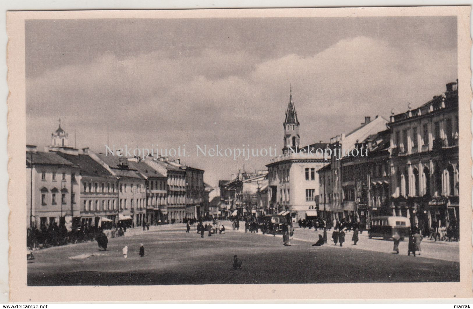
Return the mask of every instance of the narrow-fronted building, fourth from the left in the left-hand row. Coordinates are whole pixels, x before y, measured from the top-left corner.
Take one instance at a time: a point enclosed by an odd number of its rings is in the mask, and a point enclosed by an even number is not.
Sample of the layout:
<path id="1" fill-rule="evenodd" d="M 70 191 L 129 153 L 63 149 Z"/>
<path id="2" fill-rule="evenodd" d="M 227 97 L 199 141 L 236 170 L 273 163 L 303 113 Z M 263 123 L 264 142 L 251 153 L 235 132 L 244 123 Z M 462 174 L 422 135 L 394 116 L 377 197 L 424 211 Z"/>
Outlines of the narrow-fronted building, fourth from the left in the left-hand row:
<path id="1" fill-rule="evenodd" d="M 146 222 L 164 223 L 167 219 L 167 178 L 140 158 L 128 160 L 146 180 Z"/>

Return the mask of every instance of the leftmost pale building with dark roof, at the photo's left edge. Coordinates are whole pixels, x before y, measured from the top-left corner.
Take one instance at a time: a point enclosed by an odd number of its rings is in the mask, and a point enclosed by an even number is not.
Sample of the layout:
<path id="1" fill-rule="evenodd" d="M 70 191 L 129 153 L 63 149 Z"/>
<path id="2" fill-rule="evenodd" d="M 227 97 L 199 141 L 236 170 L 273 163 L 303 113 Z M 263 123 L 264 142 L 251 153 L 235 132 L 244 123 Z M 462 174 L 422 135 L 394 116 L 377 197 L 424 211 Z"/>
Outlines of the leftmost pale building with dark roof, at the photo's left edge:
<path id="1" fill-rule="evenodd" d="M 79 224 L 79 166 L 53 152 L 26 146 L 27 224 L 68 230 Z"/>

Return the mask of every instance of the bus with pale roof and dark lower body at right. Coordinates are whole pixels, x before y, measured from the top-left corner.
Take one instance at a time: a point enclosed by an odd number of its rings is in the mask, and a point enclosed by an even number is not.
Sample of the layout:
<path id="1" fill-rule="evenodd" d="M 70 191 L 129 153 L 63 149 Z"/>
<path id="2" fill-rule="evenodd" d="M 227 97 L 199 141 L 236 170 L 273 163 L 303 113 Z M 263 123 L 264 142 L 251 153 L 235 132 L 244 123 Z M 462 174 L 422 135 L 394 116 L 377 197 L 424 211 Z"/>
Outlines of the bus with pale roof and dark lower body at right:
<path id="1" fill-rule="evenodd" d="M 406 217 L 400 216 L 379 216 L 371 220 L 371 228 L 368 230 L 368 238 L 382 237 L 391 239 L 395 232 L 399 234 L 401 240 L 409 237 L 411 222 Z"/>

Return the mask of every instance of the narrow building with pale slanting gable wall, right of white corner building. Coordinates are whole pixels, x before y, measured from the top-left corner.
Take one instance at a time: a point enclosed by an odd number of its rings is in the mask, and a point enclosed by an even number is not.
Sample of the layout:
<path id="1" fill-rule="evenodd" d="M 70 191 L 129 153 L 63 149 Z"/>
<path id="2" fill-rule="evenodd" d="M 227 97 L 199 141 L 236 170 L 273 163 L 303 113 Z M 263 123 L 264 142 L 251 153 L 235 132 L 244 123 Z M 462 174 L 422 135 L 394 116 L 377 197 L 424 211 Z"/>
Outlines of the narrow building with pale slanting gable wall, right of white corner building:
<path id="1" fill-rule="evenodd" d="M 342 164 L 346 159 L 344 154 L 351 153 L 353 150 L 353 156 L 361 156 L 359 149 L 356 152 L 354 151 L 359 146 L 359 142 L 364 141 L 370 135 L 385 130 L 387 122 L 388 120 L 378 116 L 374 120 L 365 117 L 365 121 L 360 127 L 346 135 L 341 134 L 331 138 L 329 148 L 333 154 L 337 152 L 338 155 L 331 155 L 330 160 L 323 163 L 324 167 L 317 171 L 321 176 L 319 187 L 322 189 L 322 194 L 319 196 L 319 210 L 324 211 L 325 218 L 331 220 L 357 220 L 354 201 L 344 200 L 344 189 L 348 189 L 344 188 L 342 181 Z M 348 186 L 349 184 L 345 187 Z M 350 190 L 346 193 L 349 192 Z"/>

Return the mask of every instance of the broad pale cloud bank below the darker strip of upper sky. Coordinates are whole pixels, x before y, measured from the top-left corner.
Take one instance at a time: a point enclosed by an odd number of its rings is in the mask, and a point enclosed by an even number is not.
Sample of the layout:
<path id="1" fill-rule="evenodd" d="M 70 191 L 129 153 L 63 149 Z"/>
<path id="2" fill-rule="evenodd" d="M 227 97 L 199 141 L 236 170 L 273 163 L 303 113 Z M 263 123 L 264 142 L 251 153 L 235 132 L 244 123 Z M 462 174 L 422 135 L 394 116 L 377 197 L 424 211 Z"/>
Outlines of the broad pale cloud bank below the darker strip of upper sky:
<path id="1" fill-rule="evenodd" d="M 27 140 L 49 143 L 61 117 L 66 129 L 77 129 L 81 146 L 102 146 L 106 132 L 117 144 L 280 146 L 291 83 L 302 142 L 312 143 L 350 131 L 364 115 L 420 105 L 455 78 L 454 52 L 367 36 L 270 60 L 237 49 L 120 59 L 106 53 L 27 78 Z M 218 173 L 228 163 L 201 164 Z"/>

